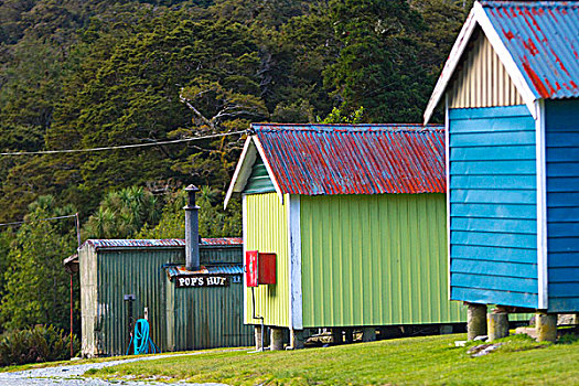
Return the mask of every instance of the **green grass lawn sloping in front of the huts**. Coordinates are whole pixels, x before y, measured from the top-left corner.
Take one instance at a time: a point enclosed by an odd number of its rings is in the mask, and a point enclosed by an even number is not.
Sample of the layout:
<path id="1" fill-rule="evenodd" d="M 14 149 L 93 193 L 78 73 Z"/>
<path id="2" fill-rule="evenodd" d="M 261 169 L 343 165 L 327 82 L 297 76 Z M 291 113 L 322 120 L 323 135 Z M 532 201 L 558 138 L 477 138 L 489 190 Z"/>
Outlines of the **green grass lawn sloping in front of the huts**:
<path id="1" fill-rule="evenodd" d="M 522 336 L 507 337 L 496 352 L 475 358 L 467 354 L 468 347 L 454 347 L 454 341 L 465 339 L 459 334 L 257 354 L 210 352 L 92 374 L 233 385 L 579 384 L 579 342 L 538 344 Z"/>

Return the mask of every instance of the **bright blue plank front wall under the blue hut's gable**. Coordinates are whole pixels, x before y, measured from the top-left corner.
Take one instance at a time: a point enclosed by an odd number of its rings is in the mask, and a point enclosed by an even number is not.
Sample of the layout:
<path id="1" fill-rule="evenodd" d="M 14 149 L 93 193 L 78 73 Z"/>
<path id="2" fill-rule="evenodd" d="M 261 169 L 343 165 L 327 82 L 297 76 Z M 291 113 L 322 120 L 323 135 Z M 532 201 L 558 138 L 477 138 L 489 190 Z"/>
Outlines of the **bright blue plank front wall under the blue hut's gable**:
<path id="1" fill-rule="evenodd" d="M 451 299 L 535 308 L 535 121 L 525 106 L 450 109 L 449 121 Z"/>

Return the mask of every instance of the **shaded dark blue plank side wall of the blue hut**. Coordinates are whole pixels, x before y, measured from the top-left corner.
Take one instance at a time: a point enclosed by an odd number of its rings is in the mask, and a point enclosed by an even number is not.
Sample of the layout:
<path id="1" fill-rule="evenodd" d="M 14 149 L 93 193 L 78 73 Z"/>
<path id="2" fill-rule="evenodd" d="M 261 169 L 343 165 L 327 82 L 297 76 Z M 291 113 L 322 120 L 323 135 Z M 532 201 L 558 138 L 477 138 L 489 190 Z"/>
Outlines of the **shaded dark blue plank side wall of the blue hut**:
<path id="1" fill-rule="evenodd" d="M 579 310 L 579 101 L 549 100 L 546 112 L 549 310 Z"/>

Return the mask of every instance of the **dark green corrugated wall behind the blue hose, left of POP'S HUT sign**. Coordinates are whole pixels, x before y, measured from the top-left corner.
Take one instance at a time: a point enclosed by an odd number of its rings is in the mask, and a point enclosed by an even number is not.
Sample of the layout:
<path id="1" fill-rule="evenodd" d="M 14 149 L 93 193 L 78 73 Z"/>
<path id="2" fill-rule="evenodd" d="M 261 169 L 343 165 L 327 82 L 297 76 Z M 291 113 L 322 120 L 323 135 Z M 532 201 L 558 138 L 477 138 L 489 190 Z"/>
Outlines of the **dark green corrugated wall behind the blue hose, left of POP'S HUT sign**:
<path id="1" fill-rule="evenodd" d="M 98 304 L 95 335 L 107 355 L 124 355 L 128 345 L 124 294 L 133 293 L 133 317 L 149 309 L 153 342 L 167 351 L 165 272 L 163 264 L 183 261 L 182 249 L 99 251 Z"/>

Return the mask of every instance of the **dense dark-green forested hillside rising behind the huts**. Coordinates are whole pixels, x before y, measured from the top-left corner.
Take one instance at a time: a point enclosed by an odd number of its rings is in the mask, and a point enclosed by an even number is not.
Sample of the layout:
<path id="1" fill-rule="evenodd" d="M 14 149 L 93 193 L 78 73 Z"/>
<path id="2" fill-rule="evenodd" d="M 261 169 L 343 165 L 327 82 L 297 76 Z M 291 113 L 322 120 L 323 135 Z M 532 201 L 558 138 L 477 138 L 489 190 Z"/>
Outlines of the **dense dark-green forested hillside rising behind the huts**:
<path id="1" fill-rule="evenodd" d="M 471 3 L 0 0 L 0 152 L 153 143 L 354 114 L 420 122 Z M 203 186 L 202 236 L 238 235 L 238 203 L 229 212 L 221 203 L 243 140 L 0 156 L 0 223 L 78 212 L 83 239 L 179 237 L 179 191 L 193 183 Z M 0 227 L 0 331 L 66 326 L 60 262 L 75 243 L 74 219 Z"/>

